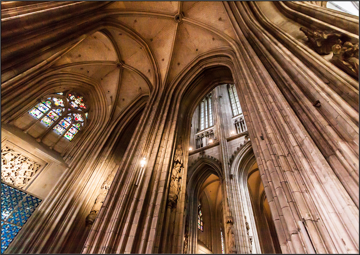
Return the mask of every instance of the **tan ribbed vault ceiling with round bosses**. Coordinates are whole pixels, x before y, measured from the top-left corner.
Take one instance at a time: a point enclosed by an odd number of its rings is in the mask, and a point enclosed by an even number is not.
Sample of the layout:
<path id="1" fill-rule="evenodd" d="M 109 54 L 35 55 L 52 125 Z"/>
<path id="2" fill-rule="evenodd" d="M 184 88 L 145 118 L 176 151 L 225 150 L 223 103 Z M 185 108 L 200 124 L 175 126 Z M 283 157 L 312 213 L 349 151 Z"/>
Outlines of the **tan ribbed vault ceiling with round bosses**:
<path id="1" fill-rule="evenodd" d="M 99 82 L 112 118 L 141 94 L 170 84 L 199 54 L 235 38 L 221 2 L 120 1 L 106 9 L 119 26 L 87 36 L 52 68 Z M 178 24 L 177 13 L 184 17 Z"/>

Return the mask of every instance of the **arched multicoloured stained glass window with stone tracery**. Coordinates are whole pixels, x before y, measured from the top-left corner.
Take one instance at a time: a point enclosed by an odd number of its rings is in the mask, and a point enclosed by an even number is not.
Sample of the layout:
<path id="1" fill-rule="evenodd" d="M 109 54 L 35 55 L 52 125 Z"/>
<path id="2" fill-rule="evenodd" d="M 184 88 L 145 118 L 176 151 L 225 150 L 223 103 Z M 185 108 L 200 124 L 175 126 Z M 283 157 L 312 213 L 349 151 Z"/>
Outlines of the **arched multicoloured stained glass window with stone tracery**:
<path id="1" fill-rule="evenodd" d="M 84 95 L 66 91 L 46 96 L 28 113 L 71 141 L 86 124 L 88 108 Z"/>

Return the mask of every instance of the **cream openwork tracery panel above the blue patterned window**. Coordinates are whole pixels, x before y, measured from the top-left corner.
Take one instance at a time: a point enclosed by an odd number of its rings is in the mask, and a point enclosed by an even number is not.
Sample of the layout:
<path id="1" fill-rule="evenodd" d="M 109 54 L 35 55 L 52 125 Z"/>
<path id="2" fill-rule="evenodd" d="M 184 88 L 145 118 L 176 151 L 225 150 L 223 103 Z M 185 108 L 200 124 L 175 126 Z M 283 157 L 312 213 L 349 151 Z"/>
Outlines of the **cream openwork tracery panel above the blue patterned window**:
<path id="1" fill-rule="evenodd" d="M 30 157 L 4 146 L 1 149 L 1 179 L 19 188 L 24 187 L 41 165 Z"/>

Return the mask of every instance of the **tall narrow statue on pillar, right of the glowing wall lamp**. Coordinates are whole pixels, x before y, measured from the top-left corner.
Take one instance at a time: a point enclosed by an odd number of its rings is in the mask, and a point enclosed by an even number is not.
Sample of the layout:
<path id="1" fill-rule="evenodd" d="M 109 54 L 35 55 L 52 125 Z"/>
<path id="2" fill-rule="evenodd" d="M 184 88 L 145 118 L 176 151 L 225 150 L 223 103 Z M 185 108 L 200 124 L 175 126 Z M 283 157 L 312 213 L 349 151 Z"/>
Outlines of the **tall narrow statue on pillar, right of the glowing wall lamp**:
<path id="1" fill-rule="evenodd" d="M 170 194 L 175 196 L 175 201 L 180 192 L 180 180 L 181 180 L 181 170 L 184 168 L 183 162 L 183 148 L 181 145 L 181 138 L 179 144 L 177 145 L 174 157 L 174 166 L 172 167 L 171 172 L 171 182 L 170 182 Z"/>

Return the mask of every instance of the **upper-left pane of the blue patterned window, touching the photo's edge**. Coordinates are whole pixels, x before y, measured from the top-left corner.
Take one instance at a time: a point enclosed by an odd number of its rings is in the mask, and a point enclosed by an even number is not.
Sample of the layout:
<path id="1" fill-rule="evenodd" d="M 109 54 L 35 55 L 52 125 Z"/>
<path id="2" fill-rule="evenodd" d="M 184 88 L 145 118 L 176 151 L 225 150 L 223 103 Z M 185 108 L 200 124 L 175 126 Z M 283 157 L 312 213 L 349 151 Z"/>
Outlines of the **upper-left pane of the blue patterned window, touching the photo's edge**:
<path id="1" fill-rule="evenodd" d="M 26 193 L 1 183 L 1 219 L 6 220 Z"/>

